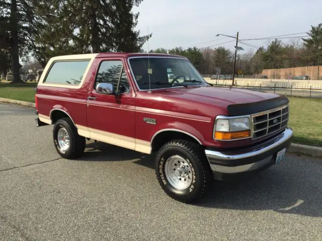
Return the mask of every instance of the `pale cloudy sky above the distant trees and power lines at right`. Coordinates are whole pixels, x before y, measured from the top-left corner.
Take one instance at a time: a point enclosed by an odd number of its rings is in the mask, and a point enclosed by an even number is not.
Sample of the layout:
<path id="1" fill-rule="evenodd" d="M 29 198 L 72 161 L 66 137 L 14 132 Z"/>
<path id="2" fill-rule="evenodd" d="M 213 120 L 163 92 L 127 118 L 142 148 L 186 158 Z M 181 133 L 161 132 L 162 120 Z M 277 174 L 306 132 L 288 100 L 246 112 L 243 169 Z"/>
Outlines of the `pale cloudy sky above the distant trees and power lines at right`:
<path id="1" fill-rule="evenodd" d="M 233 40 L 216 34 L 239 39 L 262 38 L 308 32 L 310 26 L 322 23 L 322 0 L 143 0 L 133 12 L 139 12 L 136 30 L 140 35 L 152 33 L 143 49 L 159 47 L 204 48 L 223 46 L 233 50 Z M 304 36 L 299 34 L 294 36 Z M 281 39 L 284 43 L 301 38 Z M 210 42 L 212 41 L 212 42 Z M 205 43 L 207 42 L 207 43 Z M 268 40 L 247 41 L 256 46 L 267 46 Z M 241 45 L 246 52 L 256 51 Z"/>

